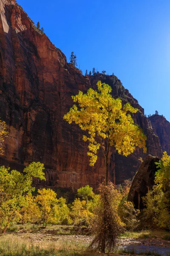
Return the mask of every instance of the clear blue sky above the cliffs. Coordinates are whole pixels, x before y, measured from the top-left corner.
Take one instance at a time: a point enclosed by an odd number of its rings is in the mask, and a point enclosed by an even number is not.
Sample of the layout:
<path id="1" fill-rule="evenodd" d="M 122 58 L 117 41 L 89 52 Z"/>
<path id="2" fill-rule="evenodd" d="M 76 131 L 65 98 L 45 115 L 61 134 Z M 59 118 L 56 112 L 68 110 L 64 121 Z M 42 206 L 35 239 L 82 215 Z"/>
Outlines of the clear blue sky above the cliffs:
<path id="1" fill-rule="evenodd" d="M 170 0 L 18 0 L 83 73 L 114 73 L 144 108 L 170 121 Z"/>

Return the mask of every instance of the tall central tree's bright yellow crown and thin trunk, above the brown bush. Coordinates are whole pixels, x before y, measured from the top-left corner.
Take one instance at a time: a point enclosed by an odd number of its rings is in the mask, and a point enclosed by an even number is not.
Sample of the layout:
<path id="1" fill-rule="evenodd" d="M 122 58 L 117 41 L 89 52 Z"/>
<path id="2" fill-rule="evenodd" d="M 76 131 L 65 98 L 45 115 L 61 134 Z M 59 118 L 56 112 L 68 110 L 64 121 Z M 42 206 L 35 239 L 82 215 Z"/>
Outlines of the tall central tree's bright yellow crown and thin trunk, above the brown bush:
<path id="1" fill-rule="evenodd" d="M 87 93 L 79 91 L 72 99 L 74 104 L 64 115 L 69 123 L 75 122 L 79 127 L 88 131 L 83 140 L 88 141 L 90 166 L 97 160 L 97 151 L 101 147 L 105 159 L 105 185 L 108 184 L 108 153 L 114 146 L 119 154 L 125 156 L 133 153 L 136 146 L 146 152 L 146 136 L 130 113 L 136 113 L 130 103 L 122 106 L 121 99 L 114 99 L 108 84 L 97 82 L 98 90 L 88 89 Z"/>

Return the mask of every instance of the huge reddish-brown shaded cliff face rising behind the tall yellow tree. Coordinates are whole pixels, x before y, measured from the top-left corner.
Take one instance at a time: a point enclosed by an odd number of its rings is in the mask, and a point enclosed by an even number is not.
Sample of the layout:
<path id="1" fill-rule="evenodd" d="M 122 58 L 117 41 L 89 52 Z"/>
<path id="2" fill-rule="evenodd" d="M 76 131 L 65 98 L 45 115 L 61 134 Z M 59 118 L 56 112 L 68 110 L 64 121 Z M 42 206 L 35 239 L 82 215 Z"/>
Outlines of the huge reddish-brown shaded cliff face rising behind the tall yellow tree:
<path id="1" fill-rule="evenodd" d="M 23 169 L 32 161 L 45 165 L 46 183 L 53 188 L 96 187 L 104 180 L 102 152 L 89 167 L 82 131 L 63 116 L 73 105 L 71 95 L 96 87 L 101 80 L 113 88 L 113 96 L 139 108 L 135 121 L 147 135 L 147 154 L 161 156 L 159 139 L 128 90 L 116 76 L 83 76 L 67 63 L 65 55 L 35 28 L 15 0 L 0 1 L 0 116 L 9 127 L 0 164 Z M 139 148 L 129 157 L 110 151 L 109 175 L 116 183 L 133 177 L 139 168 Z M 38 185 L 38 184 L 37 184 Z"/>

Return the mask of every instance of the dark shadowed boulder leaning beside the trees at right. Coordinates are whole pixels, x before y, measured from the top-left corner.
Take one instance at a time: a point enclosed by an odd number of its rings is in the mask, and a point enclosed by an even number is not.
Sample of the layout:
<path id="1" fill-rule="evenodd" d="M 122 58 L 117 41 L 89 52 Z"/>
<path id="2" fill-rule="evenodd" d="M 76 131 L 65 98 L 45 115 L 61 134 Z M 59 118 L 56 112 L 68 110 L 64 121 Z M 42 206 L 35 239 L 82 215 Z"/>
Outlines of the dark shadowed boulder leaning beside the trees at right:
<path id="1" fill-rule="evenodd" d="M 156 162 L 159 162 L 158 157 L 148 155 L 133 179 L 127 200 L 133 202 L 136 209 L 144 208 L 142 197 L 154 185 L 155 172 L 157 171 Z"/>

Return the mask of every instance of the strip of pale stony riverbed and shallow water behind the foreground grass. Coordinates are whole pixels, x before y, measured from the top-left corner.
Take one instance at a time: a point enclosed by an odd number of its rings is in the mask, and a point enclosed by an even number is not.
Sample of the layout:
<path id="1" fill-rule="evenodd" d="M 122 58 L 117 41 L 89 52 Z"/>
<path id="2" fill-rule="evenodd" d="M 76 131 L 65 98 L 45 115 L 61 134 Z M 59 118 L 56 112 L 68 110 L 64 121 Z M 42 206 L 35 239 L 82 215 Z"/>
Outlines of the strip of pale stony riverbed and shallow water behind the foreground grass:
<path id="1" fill-rule="evenodd" d="M 28 241 L 36 245 L 42 245 L 43 243 L 48 244 L 57 242 L 61 243 L 77 243 L 83 244 L 88 247 L 93 239 L 93 236 L 86 235 L 60 235 L 52 232 L 40 232 L 40 233 L 29 233 L 29 232 L 18 232 L 7 234 L 13 239 L 21 239 L 21 241 Z M 122 237 L 118 240 L 119 248 L 129 251 L 130 253 L 159 253 L 162 256 L 170 256 L 170 241 L 165 241 L 161 238 L 152 239 L 134 239 L 128 237 Z"/>

